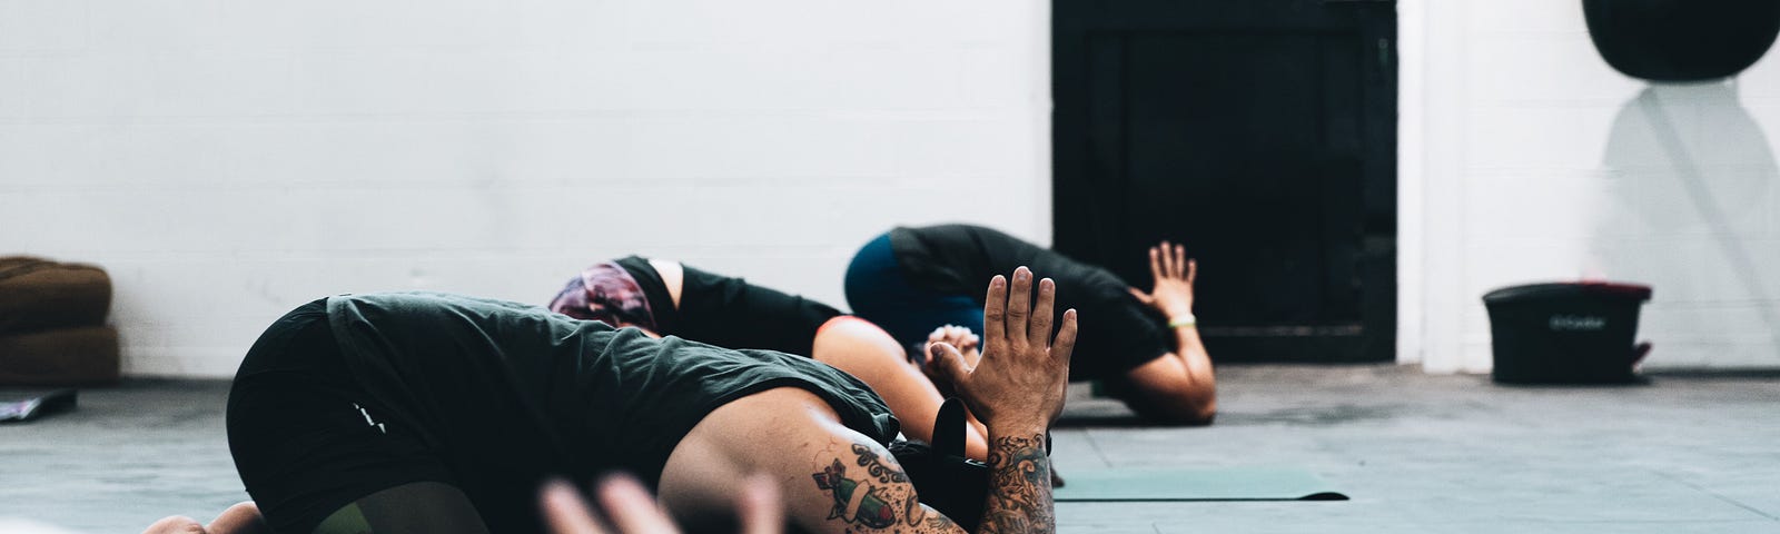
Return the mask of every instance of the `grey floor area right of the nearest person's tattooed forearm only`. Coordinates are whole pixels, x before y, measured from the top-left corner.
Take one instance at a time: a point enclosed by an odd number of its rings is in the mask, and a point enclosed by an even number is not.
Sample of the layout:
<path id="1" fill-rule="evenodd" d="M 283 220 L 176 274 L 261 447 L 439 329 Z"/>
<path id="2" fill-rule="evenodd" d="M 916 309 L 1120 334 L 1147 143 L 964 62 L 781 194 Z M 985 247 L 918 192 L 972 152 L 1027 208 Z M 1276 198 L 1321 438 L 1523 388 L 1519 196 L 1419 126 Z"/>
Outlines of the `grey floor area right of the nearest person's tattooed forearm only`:
<path id="1" fill-rule="evenodd" d="M 1780 532 L 1775 379 L 1506 388 L 1392 367 L 1230 367 L 1219 395 L 1205 429 L 1072 429 L 1057 468 L 1296 465 L 1353 500 L 1061 504 L 1063 530 Z M 1098 409 L 1118 408 L 1072 406 Z"/>

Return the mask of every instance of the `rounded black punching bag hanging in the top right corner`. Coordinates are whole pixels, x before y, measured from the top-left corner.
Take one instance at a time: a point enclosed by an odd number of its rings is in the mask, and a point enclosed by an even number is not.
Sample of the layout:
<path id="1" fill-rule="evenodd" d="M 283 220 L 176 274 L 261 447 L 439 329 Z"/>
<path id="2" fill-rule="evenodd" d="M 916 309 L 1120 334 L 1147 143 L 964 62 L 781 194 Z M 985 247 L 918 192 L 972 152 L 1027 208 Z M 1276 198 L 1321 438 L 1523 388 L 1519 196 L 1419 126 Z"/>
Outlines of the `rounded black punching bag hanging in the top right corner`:
<path id="1" fill-rule="evenodd" d="M 1654 82 L 1741 73 L 1780 34 L 1780 0 L 1582 0 L 1582 14 L 1609 66 Z"/>

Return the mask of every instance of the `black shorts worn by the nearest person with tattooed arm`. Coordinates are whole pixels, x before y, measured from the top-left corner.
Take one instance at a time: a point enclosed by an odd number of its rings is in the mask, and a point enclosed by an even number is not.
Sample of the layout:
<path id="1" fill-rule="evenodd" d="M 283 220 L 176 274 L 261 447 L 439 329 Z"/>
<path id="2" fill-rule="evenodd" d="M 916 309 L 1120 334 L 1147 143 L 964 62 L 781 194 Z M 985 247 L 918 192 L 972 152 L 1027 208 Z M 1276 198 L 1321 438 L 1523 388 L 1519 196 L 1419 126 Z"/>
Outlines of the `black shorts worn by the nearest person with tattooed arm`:
<path id="1" fill-rule="evenodd" d="M 425 481 L 463 490 L 493 532 L 538 530 L 538 486 L 555 470 L 523 445 L 529 429 L 502 422 L 511 406 L 465 392 L 468 404 L 486 406 L 463 413 L 484 440 L 431 443 L 438 440 L 425 436 L 440 429 L 399 424 L 352 379 L 326 306 L 315 301 L 274 322 L 247 351 L 228 399 L 235 468 L 272 530 L 312 532 L 358 498 Z"/>

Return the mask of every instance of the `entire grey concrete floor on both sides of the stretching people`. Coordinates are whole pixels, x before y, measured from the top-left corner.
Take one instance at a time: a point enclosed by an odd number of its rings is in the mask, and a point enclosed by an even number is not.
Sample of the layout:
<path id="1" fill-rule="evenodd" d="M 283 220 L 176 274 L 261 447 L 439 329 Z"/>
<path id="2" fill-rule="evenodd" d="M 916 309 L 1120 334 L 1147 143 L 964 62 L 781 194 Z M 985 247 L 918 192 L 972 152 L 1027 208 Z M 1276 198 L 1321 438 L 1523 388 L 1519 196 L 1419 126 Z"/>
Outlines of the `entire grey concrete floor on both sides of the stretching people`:
<path id="1" fill-rule="evenodd" d="M 226 383 L 132 381 L 0 425 L 0 525 L 137 532 L 246 498 Z M 1303 466 L 1346 502 L 1059 504 L 1063 532 L 1780 532 L 1780 379 L 1506 388 L 1401 367 L 1225 367 L 1218 424 L 1073 395 L 1056 465 Z M 1079 393 L 1079 392 L 1077 392 Z"/>

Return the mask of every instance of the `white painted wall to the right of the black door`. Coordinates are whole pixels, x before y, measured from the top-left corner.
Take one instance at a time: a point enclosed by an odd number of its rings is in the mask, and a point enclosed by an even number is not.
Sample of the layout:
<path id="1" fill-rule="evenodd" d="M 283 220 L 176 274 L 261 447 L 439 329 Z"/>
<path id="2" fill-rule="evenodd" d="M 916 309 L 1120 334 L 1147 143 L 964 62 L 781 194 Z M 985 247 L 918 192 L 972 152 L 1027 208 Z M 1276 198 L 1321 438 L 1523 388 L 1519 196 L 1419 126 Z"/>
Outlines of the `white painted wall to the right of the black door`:
<path id="1" fill-rule="evenodd" d="M 1485 372 L 1485 292 L 1591 278 L 1654 287 L 1646 368 L 1780 367 L 1775 52 L 1654 85 L 1600 59 L 1581 2 L 1399 9 L 1401 361 Z"/>

